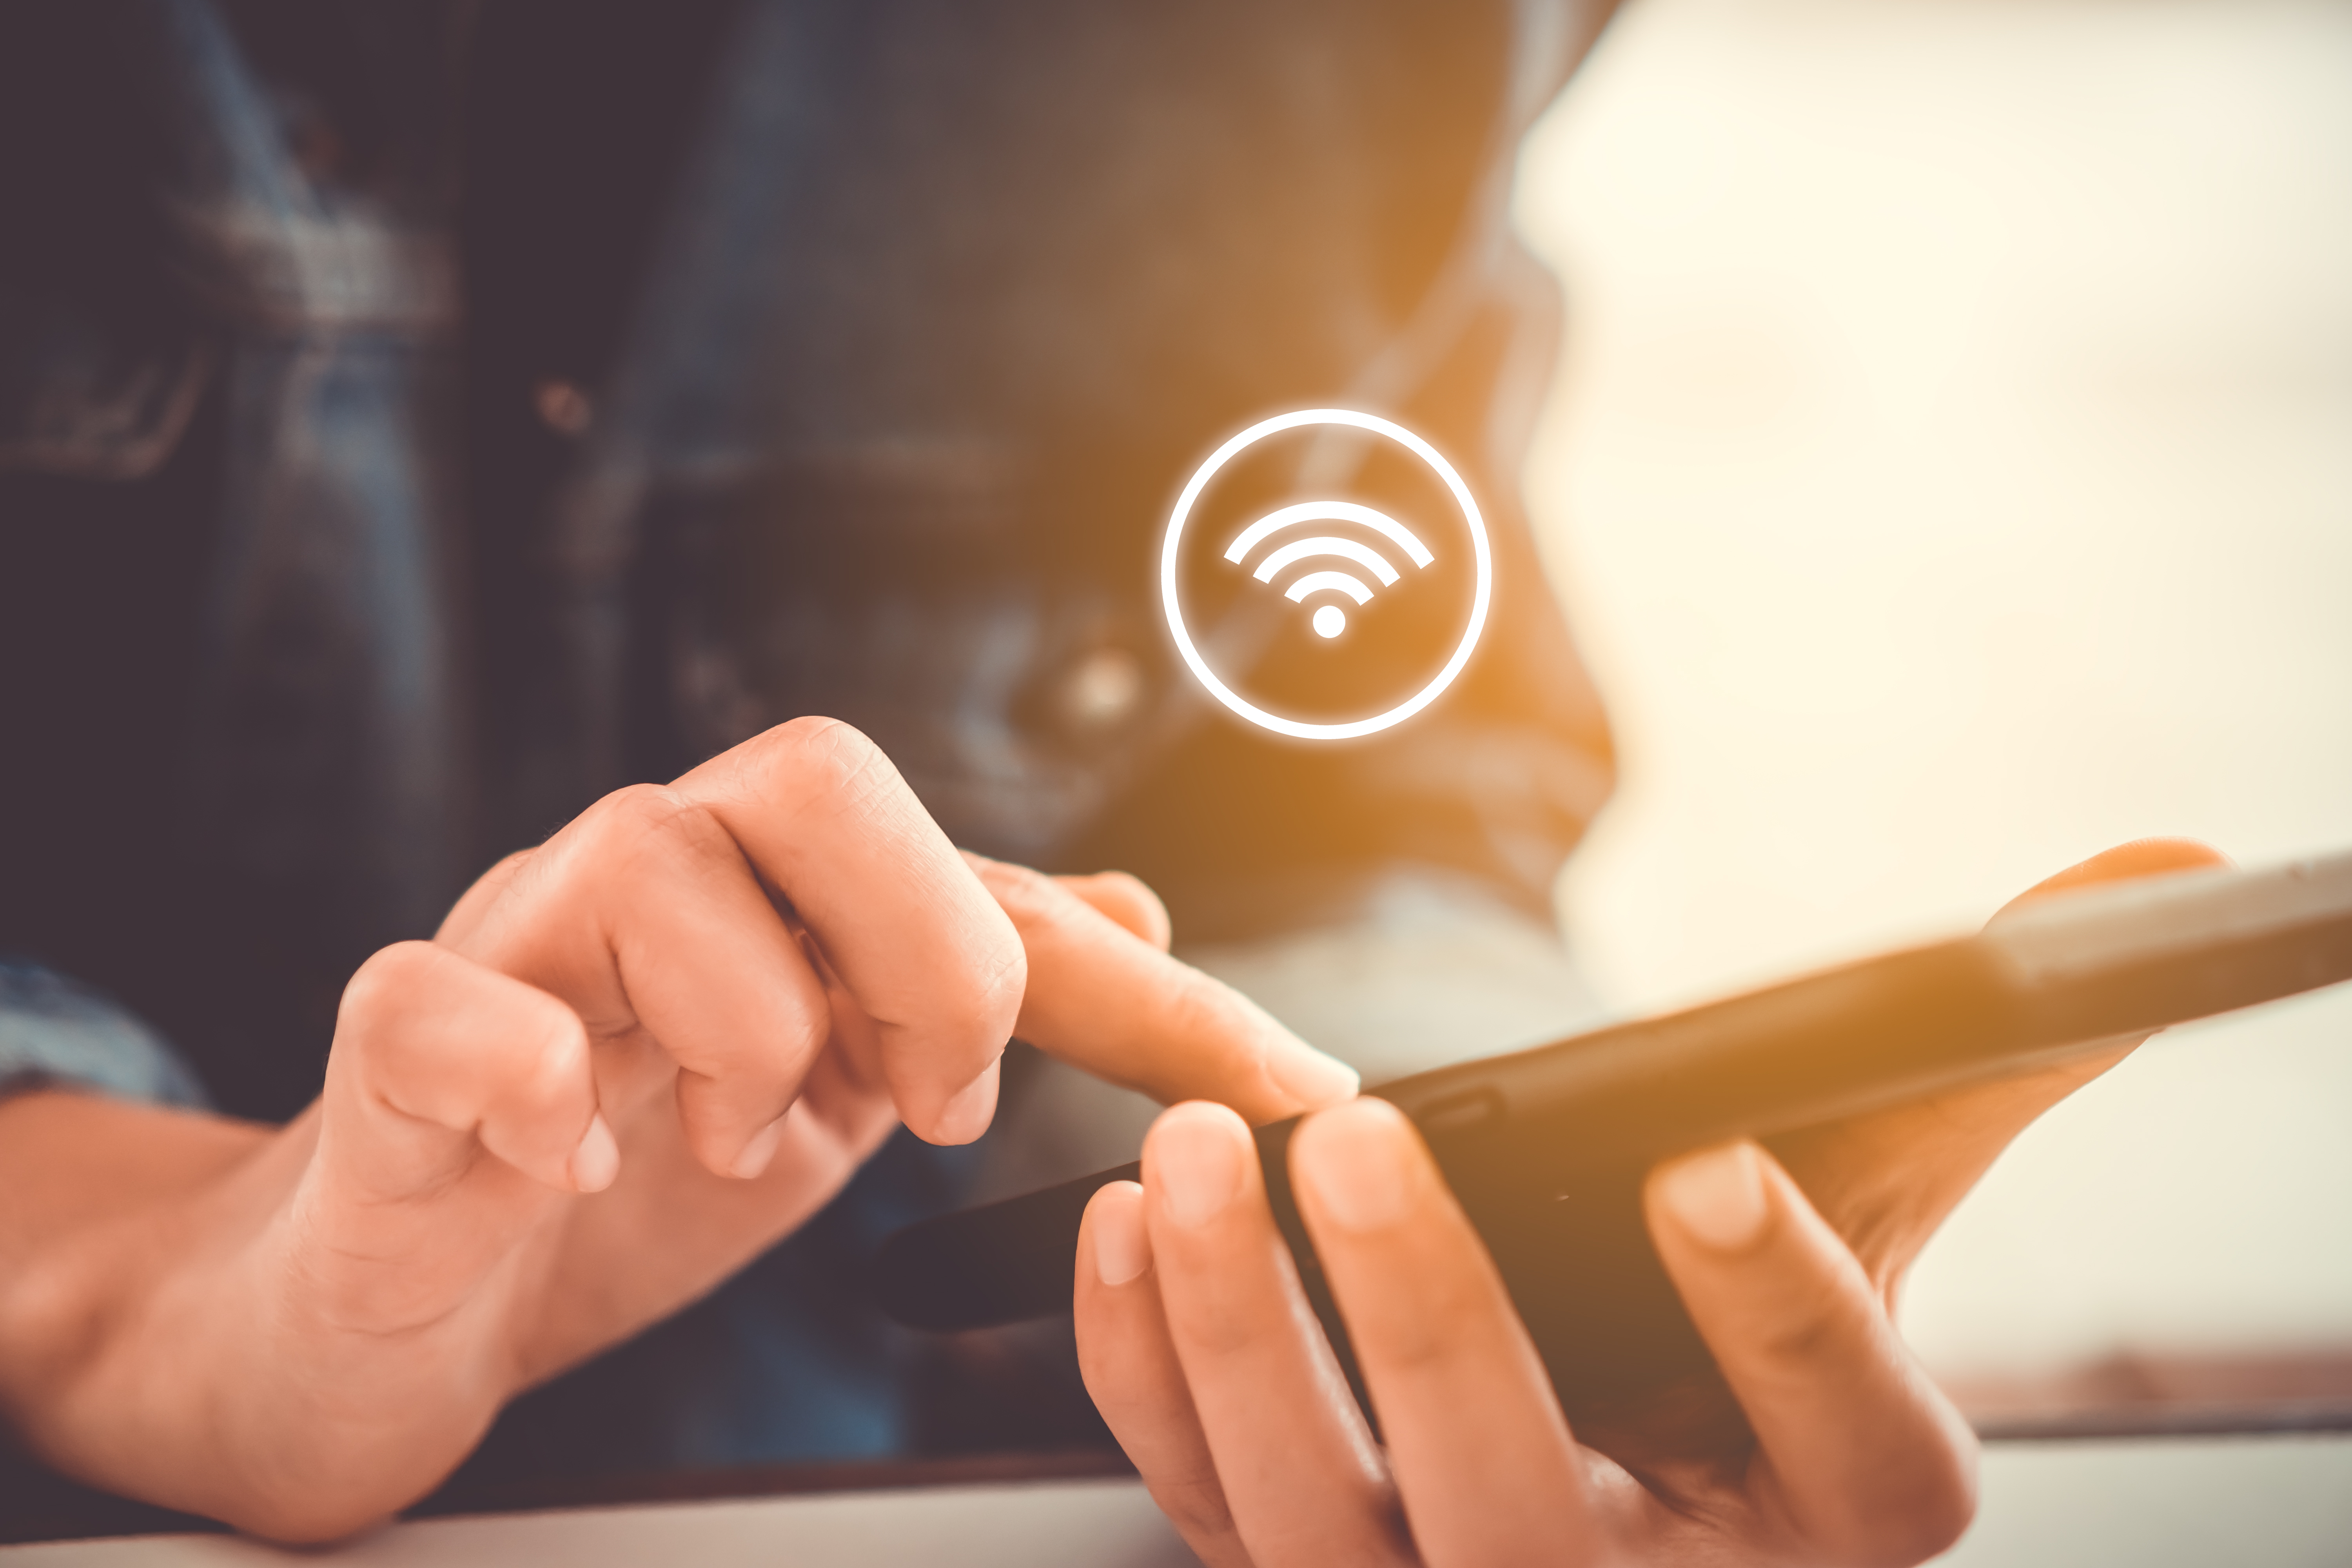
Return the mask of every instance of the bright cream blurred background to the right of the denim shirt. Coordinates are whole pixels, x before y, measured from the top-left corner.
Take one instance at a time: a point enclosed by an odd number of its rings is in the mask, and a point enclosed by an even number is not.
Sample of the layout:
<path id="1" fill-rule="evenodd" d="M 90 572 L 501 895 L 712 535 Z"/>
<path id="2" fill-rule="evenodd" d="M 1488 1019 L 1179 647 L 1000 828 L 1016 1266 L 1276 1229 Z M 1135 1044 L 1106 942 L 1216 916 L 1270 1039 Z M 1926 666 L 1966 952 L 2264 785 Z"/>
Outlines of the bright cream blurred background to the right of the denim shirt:
<path id="1" fill-rule="evenodd" d="M 2352 7 L 1632 0 L 1517 200 L 1571 299 L 1529 494 L 1625 752 L 1562 912 L 1616 1009 L 2140 835 L 2352 846 Z M 2352 1394 L 2352 992 L 2060 1107 L 1905 1321 L 2027 1410 Z"/>

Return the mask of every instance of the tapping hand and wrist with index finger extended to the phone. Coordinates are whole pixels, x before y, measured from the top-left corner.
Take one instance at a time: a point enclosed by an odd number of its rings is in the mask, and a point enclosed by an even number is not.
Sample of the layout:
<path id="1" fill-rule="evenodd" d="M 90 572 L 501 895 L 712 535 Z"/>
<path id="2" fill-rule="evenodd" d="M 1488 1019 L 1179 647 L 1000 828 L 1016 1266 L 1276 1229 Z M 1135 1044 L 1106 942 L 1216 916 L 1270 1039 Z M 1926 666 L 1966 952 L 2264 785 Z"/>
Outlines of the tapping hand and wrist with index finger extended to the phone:
<path id="1" fill-rule="evenodd" d="M 894 1121 L 976 1138 L 1016 1030 L 1258 1119 L 1352 1093 L 1164 945 L 1134 879 L 957 856 L 863 736 L 781 726 L 369 959 L 287 1128 L 0 1110 L 0 1182 L 45 1182 L 0 1222 L 0 1396 L 101 1486 L 350 1533 L 809 1218 Z"/>

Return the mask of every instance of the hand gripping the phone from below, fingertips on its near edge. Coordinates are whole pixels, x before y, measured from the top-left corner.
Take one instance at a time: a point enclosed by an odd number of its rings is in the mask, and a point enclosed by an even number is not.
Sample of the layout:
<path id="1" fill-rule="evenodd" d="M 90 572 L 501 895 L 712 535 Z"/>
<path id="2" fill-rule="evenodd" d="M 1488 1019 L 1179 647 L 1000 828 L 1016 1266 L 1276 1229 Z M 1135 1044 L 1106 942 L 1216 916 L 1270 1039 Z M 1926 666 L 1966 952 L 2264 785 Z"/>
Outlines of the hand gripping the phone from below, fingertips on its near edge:
<path id="1" fill-rule="evenodd" d="M 2053 877 L 2206 865 L 2133 844 Z M 1357 1100 L 1291 1140 L 1381 1415 L 1376 1443 L 1298 1288 L 1240 1117 L 1178 1105 L 1143 1185 L 1080 1234 L 1080 1366 L 1211 1568 L 1289 1563 L 1917 1563 L 1973 1514 L 1976 1439 L 1910 1359 L 1893 1293 L 1992 1157 L 2129 1046 L 2056 1072 L 1651 1173 L 1651 1237 L 1719 1373 L 1569 1432 L 1510 1298 L 1404 1117 Z"/>

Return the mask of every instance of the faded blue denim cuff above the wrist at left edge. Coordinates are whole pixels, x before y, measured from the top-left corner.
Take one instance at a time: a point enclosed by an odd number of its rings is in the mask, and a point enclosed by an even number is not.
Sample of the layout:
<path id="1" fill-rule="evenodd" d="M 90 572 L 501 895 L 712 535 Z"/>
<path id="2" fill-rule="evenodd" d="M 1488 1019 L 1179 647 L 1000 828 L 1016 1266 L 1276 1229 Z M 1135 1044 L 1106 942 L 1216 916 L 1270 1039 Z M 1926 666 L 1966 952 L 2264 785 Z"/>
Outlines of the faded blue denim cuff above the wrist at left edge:
<path id="1" fill-rule="evenodd" d="M 0 1095 L 38 1084 L 191 1110 L 209 1105 L 188 1063 L 120 1004 L 0 954 Z"/>

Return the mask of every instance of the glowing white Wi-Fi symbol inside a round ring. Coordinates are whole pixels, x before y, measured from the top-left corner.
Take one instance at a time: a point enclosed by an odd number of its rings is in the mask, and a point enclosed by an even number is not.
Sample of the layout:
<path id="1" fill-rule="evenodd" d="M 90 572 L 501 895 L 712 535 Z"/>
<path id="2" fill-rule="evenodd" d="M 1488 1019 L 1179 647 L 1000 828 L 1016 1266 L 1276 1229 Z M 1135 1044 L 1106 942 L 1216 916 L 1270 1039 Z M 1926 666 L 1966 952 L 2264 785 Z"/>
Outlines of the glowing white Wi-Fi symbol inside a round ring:
<path id="1" fill-rule="evenodd" d="M 1315 425 L 1348 425 L 1364 430 L 1395 442 L 1418 458 L 1421 465 L 1437 477 L 1444 491 L 1451 494 L 1454 505 L 1461 510 L 1463 534 L 1468 536 L 1475 567 L 1468 621 L 1463 623 L 1451 654 L 1442 661 L 1428 684 L 1383 712 L 1345 722 L 1284 717 L 1279 712 L 1268 712 L 1261 703 L 1254 703 L 1235 691 L 1232 684 L 1228 684 L 1202 656 L 1192 630 L 1185 625 L 1181 595 L 1185 527 L 1192 522 L 1192 512 L 1200 505 L 1202 494 L 1209 489 L 1209 482 L 1258 442 L 1287 430 L 1308 430 Z M 1317 524 L 1355 527 L 1371 538 L 1317 531 Z M 1378 543 L 1371 543 L 1374 538 Z M 1254 581 L 1277 590 L 1291 604 L 1298 604 L 1301 611 L 1305 611 L 1312 599 L 1315 607 L 1308 611 L 1305 623 L 1315 637 L 1327 644 L 1336 644 L 1350 630 L 1352 611 L 1371 607 L 1378 595 L 1406 588 L 1411 576 L 1418 576 L 1437 562 L 1437 552 L 1430 550 L 1430 545 L 1414 534 L 1414 529 L 1359 501 L 1296 501 L 1291 505 L 1282 505 L 1240 529 L 1225 543 L 1221 557 L 1232 567 L 1244 569 Z M 1479 632 L 1486 630 L 1486 609 L 1491 599 L 1494 552 L 1486 543 L 1486 520 L 1479 515 L 1477 501 L 1470 496 L 1470 487 L 1463 484 L 1463 477 L 1451 463 L 1444 461 L 1444 456 L 1439 456 L 1435 447 L 1404 425 L 1381 418 L 1378 414 L 1357 414 L 1352 409 L 1301 409 L 1296 414 L 1277 414 L 1275 418 L 1265 418 L 1249 430 L 1242 430 L 1230 442 L 1211 451 L 1176 498 L 1176 508 L 1169 512 L 1167 536 L 1160 545 L 1160 604 L 1167 611 L 1169 635 L 1176 639 L 1176 651 L 1183 656 L 1185 668 L 1190 668 L 1200 684 L 1209 689 L 1209 696 L 1223 703 L 1230 712 L 1261 729 L 1298 741 L 1350 741 L 1355 736 L 1371 736 L 1402 724 L 1435 703 L 1444 696 L 1446 686 L 1454 684 L 1454 677 L 1463 672 L 1463 665 L 1470 663 Z"/>

